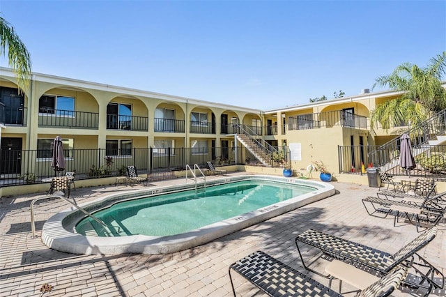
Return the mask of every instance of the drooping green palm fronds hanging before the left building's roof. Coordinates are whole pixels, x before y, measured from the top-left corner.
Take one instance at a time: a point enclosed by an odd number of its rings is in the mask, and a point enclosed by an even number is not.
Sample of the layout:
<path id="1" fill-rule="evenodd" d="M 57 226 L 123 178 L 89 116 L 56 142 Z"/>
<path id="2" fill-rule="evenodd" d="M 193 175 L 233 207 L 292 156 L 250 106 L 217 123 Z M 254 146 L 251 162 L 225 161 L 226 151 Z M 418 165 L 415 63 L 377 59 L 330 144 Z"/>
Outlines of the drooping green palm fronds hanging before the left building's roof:
<path id="1" fill-rule="evenodd" d="M 0 17 L 0 56 L 8 56 L 8 65 L 17 77 L 20 92 L 29 86 L 31 76 L 31 58 L 22 40 L 3 17 Z"/>

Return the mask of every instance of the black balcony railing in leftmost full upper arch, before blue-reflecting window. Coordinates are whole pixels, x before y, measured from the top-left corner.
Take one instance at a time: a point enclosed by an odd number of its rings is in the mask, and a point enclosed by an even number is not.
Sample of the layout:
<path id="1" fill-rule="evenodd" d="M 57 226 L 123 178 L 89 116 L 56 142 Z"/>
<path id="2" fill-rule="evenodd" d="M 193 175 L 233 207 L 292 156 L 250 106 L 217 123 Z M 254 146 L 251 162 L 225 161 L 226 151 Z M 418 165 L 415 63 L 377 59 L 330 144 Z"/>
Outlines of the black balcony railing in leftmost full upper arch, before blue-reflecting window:
<path id="1" fill-rule="evenodd" d="M 62 109 L 40 109 L 39 127 L 98 129 L 99 114 L 97 112 L 75 112 Z"/>

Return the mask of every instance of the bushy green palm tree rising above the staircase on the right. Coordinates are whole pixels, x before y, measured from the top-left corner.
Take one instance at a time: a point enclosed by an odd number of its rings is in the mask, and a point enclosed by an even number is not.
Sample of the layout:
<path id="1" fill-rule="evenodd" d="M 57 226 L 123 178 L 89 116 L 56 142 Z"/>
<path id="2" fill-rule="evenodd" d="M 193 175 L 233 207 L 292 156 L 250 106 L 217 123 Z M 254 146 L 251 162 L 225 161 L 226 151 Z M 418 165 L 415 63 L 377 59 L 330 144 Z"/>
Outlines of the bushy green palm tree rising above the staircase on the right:
<path id="1" fill-rule="evenodd" d="M 391 75 L 380 76 L 373 87 L 387 86 L 403 95 L 377 105 L 371 112 L 372 126 L 380 122 L 383 128 L 391 125 L 410 123 L 417 125 L 426 120 L 432 112 L 446 108 L 446 91 L 441 79 L 446 71 L 446 52 L 430 60 L 425 68 L 403 63 Z"/>

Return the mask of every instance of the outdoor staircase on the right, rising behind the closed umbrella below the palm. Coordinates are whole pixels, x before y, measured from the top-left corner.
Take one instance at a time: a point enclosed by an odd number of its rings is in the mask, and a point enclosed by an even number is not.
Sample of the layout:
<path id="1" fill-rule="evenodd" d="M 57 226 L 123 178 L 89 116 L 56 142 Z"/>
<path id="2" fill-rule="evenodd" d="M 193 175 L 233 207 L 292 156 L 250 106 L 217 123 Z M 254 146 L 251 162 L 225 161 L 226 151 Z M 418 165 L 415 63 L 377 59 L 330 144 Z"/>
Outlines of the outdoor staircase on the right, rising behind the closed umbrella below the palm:
<path id="1" fill-rule="evenodd" d="M 414 157 L 430 151 L 432 146 L 446 144 L 446 109 L 404 133 L 410 137 Z M 399 166 L 401 135 L 369 153 L 369 160 L 382 172 Z"/>

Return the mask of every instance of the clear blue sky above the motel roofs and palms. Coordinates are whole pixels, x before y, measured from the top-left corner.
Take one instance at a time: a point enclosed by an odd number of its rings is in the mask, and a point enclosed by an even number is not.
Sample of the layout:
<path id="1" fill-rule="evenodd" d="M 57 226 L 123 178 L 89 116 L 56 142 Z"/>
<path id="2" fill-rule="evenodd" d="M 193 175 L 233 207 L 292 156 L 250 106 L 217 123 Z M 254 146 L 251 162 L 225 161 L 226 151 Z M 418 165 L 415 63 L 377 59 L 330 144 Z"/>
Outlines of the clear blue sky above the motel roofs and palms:
<path id="1" fill-rule="evenodd" d="M 0 12 L 34 72 L 263 110 L 354 96 L 446 50 L 445 0 L 0 0 Z"/>

